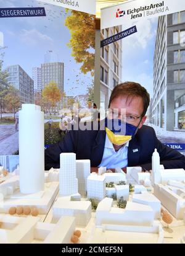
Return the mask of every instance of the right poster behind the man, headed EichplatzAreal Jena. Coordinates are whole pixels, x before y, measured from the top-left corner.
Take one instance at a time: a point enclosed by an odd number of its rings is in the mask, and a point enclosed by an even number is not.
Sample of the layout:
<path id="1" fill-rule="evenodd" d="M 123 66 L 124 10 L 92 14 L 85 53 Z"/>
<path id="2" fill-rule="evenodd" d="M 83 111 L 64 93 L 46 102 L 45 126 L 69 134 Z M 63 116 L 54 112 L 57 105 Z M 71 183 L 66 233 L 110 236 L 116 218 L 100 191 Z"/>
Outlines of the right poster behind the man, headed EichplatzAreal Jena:
<path id="1" fill-rule="evenodd" d="M 154 128 L 162 143 L 183 154 L 184 10 L 184 0 L 134 0 L 101 10 L 102 106 L 107 107 L 116 84 L 139 82 L 150 94 L 145 124 Z M 110 88 L 109 94 L 105 94 L 105 85 Z"/>

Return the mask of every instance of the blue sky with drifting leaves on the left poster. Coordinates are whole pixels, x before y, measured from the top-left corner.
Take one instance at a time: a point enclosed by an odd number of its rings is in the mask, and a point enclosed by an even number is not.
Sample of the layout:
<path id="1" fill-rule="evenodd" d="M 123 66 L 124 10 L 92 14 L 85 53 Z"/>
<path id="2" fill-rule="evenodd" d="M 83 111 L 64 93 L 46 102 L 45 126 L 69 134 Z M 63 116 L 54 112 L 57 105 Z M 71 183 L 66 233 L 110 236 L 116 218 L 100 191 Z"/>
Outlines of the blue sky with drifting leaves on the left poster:
<path id="1" fill-rule="evenodd" d="M 58 61 L 64 62 L 64 90 L 67 95 L 86 94 L 92 85 L 90 73 L 80 74 L 81 64 L 73 59 L 67 46 L 70 31 L 65 27 L 65 9 L 33 0 L 0 0 L 2 7 L 45 7 L 46 17 L 1 18 L 0 32 L 4 35 L 4 68 L 20 66 L 32 77 L 32 68 L 44 63 L 44 54 L 52 50 Z M 76 81 L 77 80 L 77 81 Z"/>

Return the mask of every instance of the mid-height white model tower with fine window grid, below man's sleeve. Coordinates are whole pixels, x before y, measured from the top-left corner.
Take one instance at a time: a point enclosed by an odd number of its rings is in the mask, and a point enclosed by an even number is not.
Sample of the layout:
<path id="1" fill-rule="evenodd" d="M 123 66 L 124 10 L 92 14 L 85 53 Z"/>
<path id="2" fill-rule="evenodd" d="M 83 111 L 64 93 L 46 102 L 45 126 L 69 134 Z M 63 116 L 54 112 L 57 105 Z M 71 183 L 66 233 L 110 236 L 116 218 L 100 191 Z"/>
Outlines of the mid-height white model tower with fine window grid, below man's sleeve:
<path id="1" fill-rule="evenodd" d="M 60 154 L 59 193 L 60 196 L 67 196 L 78 193 L 75 153 Z"/>

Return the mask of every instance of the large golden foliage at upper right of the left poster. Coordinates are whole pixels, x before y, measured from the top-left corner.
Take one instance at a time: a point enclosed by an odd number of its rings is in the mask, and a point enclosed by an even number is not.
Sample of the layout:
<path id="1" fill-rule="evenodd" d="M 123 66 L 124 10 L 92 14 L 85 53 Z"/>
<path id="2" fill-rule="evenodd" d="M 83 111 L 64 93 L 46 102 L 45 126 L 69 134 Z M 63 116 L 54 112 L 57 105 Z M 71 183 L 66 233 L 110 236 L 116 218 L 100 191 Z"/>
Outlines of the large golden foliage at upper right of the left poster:
<path id="1" fill-rule="evenodd" d="M 69 12 L 67 10 L 67 12 Z M 68 46 L 77 63 L 83 63 L 80 70 L 83 74 L 91 72 L 94 76 L 95 16 L 84 12 L 70 11 L 65 25 L 72 35 Z"/>

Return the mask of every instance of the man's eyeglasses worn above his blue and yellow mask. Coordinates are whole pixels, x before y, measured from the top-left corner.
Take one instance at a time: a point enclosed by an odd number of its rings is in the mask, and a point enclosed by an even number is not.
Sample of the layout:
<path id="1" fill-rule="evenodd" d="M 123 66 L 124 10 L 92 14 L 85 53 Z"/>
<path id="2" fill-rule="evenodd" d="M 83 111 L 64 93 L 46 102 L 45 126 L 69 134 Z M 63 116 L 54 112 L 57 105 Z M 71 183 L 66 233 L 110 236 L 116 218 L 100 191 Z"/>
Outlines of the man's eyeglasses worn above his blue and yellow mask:
<path id="1" fill-rule="evenodd" d="M 110 119 L 115 118 L 115 119 L 120 119 L 121 121 L 126 121 L 126 123 L 135 124 L 138 118 L 141 118 L 142 116 L 137 117 L 136 115 L 131 115 L 131 114 L 121 114 L 121 113 L 118 113 L 117 111 L 113 111 L 112 109 L 109 109 L 107 110 L 107 117 Z"/>

